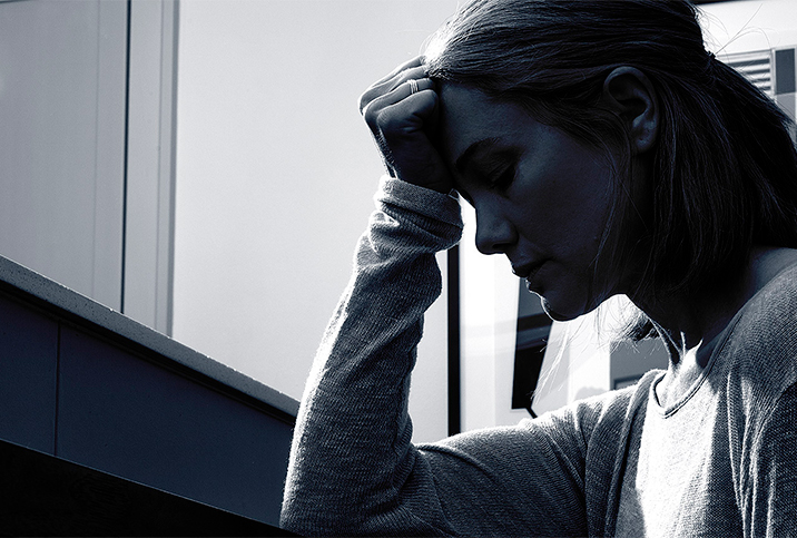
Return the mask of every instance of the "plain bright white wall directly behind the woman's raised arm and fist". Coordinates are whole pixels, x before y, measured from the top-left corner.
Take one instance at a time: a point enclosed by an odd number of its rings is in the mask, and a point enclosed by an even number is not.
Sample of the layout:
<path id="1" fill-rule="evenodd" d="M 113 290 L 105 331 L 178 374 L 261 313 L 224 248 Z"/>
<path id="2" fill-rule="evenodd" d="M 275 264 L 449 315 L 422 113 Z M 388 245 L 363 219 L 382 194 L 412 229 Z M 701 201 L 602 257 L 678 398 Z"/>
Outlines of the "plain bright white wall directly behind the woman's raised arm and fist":
<path id="1" fill-rule="evenodd" d="M 180 2 L 174 336 L 294 398 L 350 276 L 382 164 L 357 99 L 456 0 Z M 445 304 L 413 376 L 445 434 Z"/>

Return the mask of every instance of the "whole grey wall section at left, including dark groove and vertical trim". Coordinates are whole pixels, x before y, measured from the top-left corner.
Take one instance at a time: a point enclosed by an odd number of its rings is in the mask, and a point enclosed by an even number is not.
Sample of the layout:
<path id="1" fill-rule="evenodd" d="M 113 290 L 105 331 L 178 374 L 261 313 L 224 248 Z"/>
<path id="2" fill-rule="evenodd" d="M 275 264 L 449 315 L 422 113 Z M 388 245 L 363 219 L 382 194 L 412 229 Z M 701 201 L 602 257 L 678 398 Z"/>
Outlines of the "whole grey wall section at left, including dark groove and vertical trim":
<path id="1" fill-rule="evenodd" d="M 175 16 L 0 2 L 0 254 L 167 334 Z"/>

